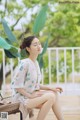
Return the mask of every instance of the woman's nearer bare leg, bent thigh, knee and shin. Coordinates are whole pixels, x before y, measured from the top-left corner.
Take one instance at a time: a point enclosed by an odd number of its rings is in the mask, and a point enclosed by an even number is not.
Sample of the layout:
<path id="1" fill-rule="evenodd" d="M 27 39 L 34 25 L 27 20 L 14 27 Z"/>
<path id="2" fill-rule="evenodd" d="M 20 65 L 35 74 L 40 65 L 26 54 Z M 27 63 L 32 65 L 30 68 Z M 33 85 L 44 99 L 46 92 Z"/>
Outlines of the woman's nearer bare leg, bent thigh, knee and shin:
<path id="1" fill-rule="evenodd" d="M 44 120 L 53 103 L 55 103 L 55 95 L 52 93 L 46 93 L 41 97 L 30 99 L 27 103 L 28 108 L 36 108 L 43 104 L 38 114 L 37 120 Z"/>

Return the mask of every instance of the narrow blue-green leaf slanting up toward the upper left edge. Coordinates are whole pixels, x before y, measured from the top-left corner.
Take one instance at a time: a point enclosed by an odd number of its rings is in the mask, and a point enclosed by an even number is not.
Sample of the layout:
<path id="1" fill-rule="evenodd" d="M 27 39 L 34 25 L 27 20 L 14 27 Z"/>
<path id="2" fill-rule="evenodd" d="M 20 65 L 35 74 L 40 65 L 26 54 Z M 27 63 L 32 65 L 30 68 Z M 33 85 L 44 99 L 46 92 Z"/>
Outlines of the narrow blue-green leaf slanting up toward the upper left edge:
<path id="1" fill-rule="evenodd" d="M 6 35 L 8 36 L 8 40 L 13 44 L 13 42 L 17 42 L 16 37 L 14 36 L 14 34 L 11 32 L 9 26 L 7 25 L 7 22 L 2 19 L 2 24 L 4 27 L 4 31 L 6 33 Z"/>

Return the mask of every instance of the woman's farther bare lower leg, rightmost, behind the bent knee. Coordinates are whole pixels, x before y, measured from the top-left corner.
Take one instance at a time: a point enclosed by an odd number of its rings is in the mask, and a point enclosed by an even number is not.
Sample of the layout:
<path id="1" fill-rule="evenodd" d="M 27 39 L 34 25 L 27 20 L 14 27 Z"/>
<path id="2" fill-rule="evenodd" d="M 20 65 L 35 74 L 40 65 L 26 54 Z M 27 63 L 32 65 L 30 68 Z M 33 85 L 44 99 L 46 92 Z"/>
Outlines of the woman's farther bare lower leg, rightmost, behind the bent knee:
<path id="1" fill-rule="evenodd" d="M 55 93 L 55 95 L 56 95 L 56 101 L 55 101 L 55 104 L 52 105 L 52 110 L 55 113 L 58 120 L 63 120 L 63 114 L 62 114 L 58 94 Z"/>

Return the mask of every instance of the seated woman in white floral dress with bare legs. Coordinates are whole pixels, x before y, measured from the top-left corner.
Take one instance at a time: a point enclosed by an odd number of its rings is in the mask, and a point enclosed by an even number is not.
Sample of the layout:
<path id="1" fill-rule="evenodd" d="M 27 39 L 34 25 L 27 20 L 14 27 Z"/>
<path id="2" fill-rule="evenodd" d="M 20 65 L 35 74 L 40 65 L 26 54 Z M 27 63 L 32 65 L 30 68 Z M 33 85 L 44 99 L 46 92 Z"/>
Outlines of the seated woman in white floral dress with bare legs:
<path id="1" fill-rule="evenodd" d="M 20 61 L 18 71 L 14 77 L 14 98 L 22 102 L 28 109 L 40 108 L 36 120 L 44 120 L 52 108 L 58 120 L 63 120 L 58 94 L 62 88 L 50 88 L 41 85 L 41 73 L 37 57 L 41 53 L 41 43 L 35 36 L 24 38 L 21 49 L 26 49 L 28 58 Z"/>

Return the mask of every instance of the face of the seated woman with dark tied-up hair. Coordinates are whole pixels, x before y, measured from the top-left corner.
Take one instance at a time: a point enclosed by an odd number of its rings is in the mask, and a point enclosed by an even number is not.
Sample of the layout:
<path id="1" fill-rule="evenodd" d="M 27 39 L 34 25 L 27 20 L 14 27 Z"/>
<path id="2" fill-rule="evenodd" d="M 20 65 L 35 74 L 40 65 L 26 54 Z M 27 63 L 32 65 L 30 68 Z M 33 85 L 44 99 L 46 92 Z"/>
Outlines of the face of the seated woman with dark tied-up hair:
<path id="1" fill-rule="evenodd" d="M 34 38 L 30 47 L 27 50 L 30 54 L 36 54 L 36 55 L 40 54 L 42 50 L 42 46 L 39 39 Z"/>

